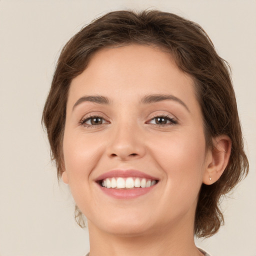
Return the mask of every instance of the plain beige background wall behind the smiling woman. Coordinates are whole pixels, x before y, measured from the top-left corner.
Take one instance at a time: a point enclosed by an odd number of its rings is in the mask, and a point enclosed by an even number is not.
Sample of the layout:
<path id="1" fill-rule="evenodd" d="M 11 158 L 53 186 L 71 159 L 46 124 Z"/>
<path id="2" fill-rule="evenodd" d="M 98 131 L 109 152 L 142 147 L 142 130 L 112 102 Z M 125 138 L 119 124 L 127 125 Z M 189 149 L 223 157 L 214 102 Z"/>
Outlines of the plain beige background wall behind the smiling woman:
<path id="1" fill-rule="evenodd" d="M 0 256 L 82 256 L 87 230 L 58 185 L 41 111 L 60 48 L 110 10 L 154 7 L 198 22 L 232 67 L 250 173 L 223 201 L 225 225 L 197 244 L 215 256 L 256 255 L 255 0 L 0 0 Z"/>

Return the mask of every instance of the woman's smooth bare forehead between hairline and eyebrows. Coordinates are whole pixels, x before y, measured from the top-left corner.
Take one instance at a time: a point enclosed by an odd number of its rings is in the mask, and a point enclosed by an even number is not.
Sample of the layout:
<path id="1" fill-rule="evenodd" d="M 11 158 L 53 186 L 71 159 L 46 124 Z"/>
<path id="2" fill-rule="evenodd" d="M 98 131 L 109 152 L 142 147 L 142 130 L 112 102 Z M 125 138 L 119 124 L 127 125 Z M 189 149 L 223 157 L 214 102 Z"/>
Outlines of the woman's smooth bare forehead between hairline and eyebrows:
<path id="1" fill-rule="evenodd" d="M 187 101 L 195 98 L 193 79 L 177 67 L 169 53 L 156 46 L 131 44 L 98 50 L 71 81 L 68 101 L 83 94 L 127 101 L 152 93 L 171 93 Z"/>

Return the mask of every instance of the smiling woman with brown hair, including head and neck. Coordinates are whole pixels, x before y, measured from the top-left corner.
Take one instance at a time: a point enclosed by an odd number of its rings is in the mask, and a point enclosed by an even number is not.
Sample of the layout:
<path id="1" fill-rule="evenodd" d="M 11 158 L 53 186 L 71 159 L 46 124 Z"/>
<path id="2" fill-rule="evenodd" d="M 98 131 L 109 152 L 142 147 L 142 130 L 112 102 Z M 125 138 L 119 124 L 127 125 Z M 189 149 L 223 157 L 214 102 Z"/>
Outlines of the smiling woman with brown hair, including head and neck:
<path id="1" fill-rule="evenodd" d="M 90 256 L 208 255 L 248 161 L 228 68 L 197 24 L 115 11 L 64 46 L 43 110 Z"/>

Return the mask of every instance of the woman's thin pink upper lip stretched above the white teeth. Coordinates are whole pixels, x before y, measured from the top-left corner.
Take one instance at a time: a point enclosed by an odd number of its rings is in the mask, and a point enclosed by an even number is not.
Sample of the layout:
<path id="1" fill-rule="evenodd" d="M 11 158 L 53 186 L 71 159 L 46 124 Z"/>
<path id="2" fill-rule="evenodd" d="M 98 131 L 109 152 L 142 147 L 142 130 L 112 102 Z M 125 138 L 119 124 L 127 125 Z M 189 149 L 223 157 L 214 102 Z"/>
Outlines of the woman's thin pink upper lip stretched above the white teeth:
<path id="1" fill-rule="evenodd" d="M 114 169 L 114 170 L 110 170 L 107 171 L 101 175 L 99 175 L 96 178 L 96 181 L 105 179 L 105 178 L 111 178 L 111 177 L 140 177 L 140 178 L 146 178 L 146 179 L 154 179 L 154 180 L 158 180 L 158 178 L 153 177 L 151 175 L 148 175 L 147 173 L 144 173 L 142 171 L 139 170 L 135 170 L 135 169 L 126 169 L 126 170 L 121 170 L 121 169 Z"/>

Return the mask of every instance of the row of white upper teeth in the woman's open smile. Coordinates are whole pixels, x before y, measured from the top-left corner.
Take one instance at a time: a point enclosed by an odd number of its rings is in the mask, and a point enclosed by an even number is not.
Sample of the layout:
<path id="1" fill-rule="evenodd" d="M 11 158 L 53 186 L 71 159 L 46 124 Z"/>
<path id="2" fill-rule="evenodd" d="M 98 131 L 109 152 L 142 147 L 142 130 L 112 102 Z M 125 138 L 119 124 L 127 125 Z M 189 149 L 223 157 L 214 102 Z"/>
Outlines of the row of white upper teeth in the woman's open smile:
<path id="1" fill-rule="evenodd" d="M 149 187 L 156 184 L 156 180 L 138 178 L 138 177 L 112 177 L 102 180 L 101 185 L 106 188 L 133 188 L 133 187 Z"/>

